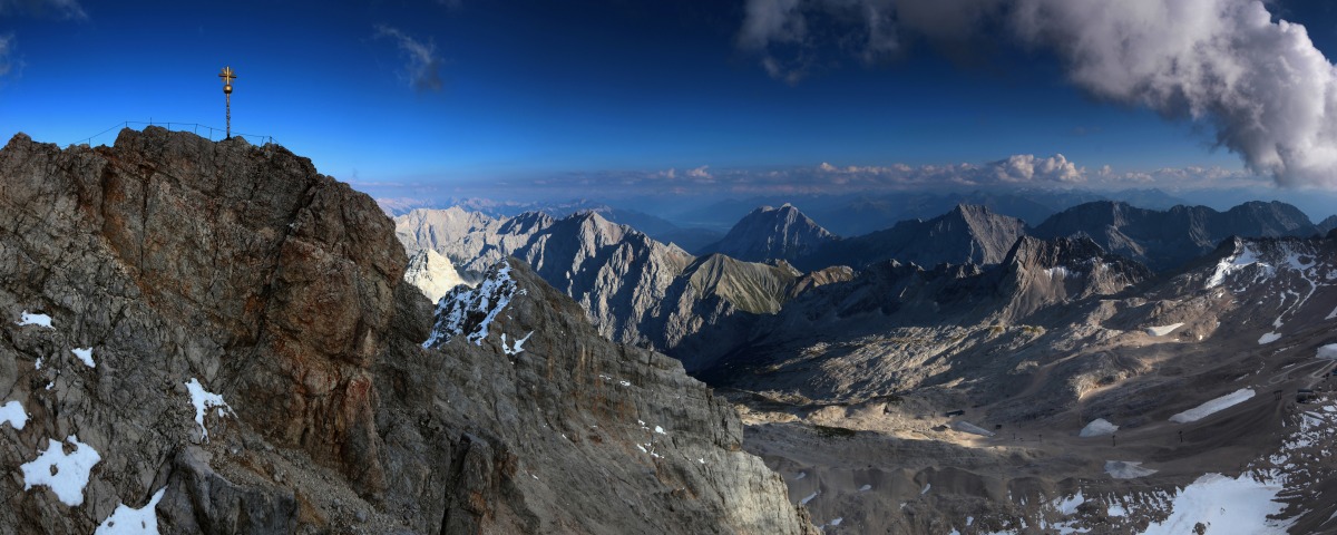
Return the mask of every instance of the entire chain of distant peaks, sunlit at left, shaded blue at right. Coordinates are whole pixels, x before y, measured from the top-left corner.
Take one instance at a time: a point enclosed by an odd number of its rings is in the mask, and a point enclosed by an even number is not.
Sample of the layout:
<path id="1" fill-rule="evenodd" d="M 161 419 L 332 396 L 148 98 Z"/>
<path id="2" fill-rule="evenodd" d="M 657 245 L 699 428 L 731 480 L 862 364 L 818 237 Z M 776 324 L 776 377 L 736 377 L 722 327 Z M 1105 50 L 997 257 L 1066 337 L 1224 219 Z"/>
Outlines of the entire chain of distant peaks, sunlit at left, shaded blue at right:
<path id="1" fill-rule="evenodd" d="M 750 340 L 747 333 L 763 322 L 762 317 L 783 313 L 792 300 L 868 273 L 973 277 L 997 273 L 989 266 L 1017 262 L 1019 255 L 1036 255 L 1032 263 L 1086 274 L 1083 281 L 1103 280 L 1104 272 L 1096 268 L 1116 265 L 1122 273 L 1116 280 L 1135 284 L 1152 272 L 1210 253 L 1230 235 L 1302 237 L 1317 234 L 1318 227 L 1293 206 L 1277 202 L 1245 203 L 1218 213 L 1202 206 L 1158 211 L 1098 201 L 1055 214 L 1035 229 L 988 207 L 960 205 L 932 219 L 902 221 L 853 238 L 833 235 L 792 205 L 761 207 L 723 239 L 705 247 L 702 255 L 610 222 L 592 210 L 564 218 L 545 213 L 492 217 L 460 207 L 414 210 L 396 218 L 396 231 L 410 254 L 440 253 L 465 281 L 515 255 L 575 298 L 604 336 L 663 350 L 695 370 L 727 353 L 722 349 L 729 346 L 725 340 Z M 1046 247 L 1062 253 L 1046 253 Z M 1094 263 L 1072 263 L 1076 257 Z M 1005 282 L 979 281 L 989 282 L 972 284 L 984 288 Z M 1012 284 L 1039 288 L 1020 278 Z M 1071 285 L 1059 285 L 1059 296 L 1066 296 L 1062 298 L 1095 292 Z M 1116 292 L 1115 286 L 1110 282 L 1099 292 Z M 925 304 L 943 305 L 943 292 L 955 290 L 932 286 L 916 292 L 927 292 Z M 1025 301 L 1032 294 L 1021 292 L 1008 298 Z M 1009 310 L 1031 313 L 1042 305 L 1017 302 Z M 925 310 L 935 308 L 917 309 Z M 702 334 L 707 329 L 713 333 Z"/>

